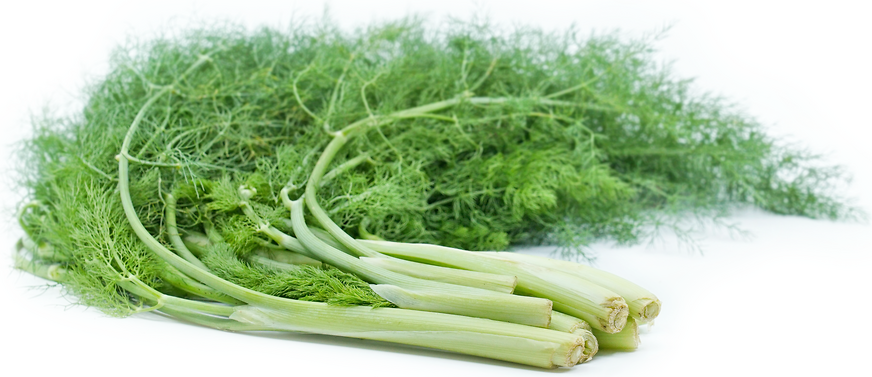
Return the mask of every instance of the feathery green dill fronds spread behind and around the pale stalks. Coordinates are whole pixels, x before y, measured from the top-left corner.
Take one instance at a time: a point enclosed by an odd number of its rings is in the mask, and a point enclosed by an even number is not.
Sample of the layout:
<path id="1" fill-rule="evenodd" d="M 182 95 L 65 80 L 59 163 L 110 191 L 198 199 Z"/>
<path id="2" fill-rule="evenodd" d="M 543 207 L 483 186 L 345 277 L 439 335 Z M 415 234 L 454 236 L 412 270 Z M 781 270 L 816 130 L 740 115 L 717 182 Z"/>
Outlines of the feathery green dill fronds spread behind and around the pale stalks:
<path id="1" fill-rule="evenodd" d="M 344 168 L 319 191 L 337 224 L 352 235 L 365 225 L 388 240 L 469 250 L 558 243 L 581 251 L 597 239 L 638 241 L 664 216 L 718 216 L 737 205 L 856 214 L 834 194 L 841 170 L 766 136 L 723 100 L 695 95 L 653 62 L 650 40 L 423 25 L 410 18 L 354 33 L 329 24 L 225 26 L 131 42 L 89 88 L 81 115 L 34 124 L 21 172 L 28 199 L 40 204 L 23 212 L 25 231 L 66 253 L 45 262 L 72 272 L 68 287 L 86 304 L 135 311 L 116 287 L 127 275 L 167 289 L 163 263 L 125 225 L 114 190 L 128 127 L 170 84 L 131 140 L 139 218 L 171 248 L 163 194 L 174 192 L 181 230 L 214 230 L 232 250 L 210 254 L 210 268 L 284 297 L 385 305 L 334 269 L 301 268 L 294 277 L 246 264 L 267 238 L 243 215 L 237 188 L 254 188 L 255 212 L 287 231 L 279 191 L 302 194 L 330 132 L 451 98 L 498 100 L 461 101 L 350 139 L 332 165 Z M 303 281 L 317 288 L 291 288 Z"/>

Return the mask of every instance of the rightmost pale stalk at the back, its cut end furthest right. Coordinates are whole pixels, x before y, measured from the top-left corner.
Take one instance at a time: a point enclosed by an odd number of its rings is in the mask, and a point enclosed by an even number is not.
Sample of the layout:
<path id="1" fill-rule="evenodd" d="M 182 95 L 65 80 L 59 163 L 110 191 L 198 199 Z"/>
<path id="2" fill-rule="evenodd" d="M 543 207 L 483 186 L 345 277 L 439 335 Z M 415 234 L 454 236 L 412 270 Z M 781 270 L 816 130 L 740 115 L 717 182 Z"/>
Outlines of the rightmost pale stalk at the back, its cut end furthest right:
<path id="1" fill-rule="evenodd" d="M 507 252 L 489 252 L 500 258 L 518 262 L 535 264 L 557 271 L 571 273 L 582 279 L 589 280 L 601 287 L 607 288 L 624 298 L 630 308 L 630 316 L 644 324 L 653 321 L 660 314 L 660 300 L 653 293 L 638 284 L 620 276 L 599 270 L 580 263 L 551 259 L 536 255 Z"/>

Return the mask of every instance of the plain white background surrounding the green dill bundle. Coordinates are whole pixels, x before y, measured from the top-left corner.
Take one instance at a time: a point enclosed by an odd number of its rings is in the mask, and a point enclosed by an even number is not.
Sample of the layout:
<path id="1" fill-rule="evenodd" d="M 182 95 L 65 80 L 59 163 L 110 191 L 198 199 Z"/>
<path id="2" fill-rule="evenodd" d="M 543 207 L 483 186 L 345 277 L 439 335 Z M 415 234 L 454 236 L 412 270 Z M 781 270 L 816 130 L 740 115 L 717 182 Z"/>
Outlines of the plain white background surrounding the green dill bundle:
<path id="1" fill-rule="evenodd" d="M 14 4 L 14 5 L 13 5 Z M 0 168 L 28 118 L 48 104 L 75 110 L 81 87 L 105 73 L 111 48 L 167 25 L 230 19 L 283 26 L 320 17 L 320 1 L 3 2 L 0 5 Z M 658 59 L 697 88 L 731 98 L 774 135 L 790 138 L 855 180 L 872 210 L 872 11 L 864 2 L 760 1 L 332 1 L 351 28 L 419 13 L 488 14 L 503 25 L 620 29 L 628 36 L 672 25 Z M 825 5 L 824 5 L 825 4 Z M 20 232 L 20 194 L 2 186 L 0 249 Z M 247 335 L 158 315 L 107 318 L 71 306 L 56 289 L 0 258 L 0 374 L 12 375 L 868 375 L 872 229 L 758 211 L 733 220 L 754 235 L 701 235 L 704 254 L 670 237 L 655 245 L 596 245 L 598 267 L 634 280 L 664 302 L 632 353 L 540 371 L 509 363 L 315 335 Z M 5 246 L 4 246 L 5 245 Z M 547 253 L 548 249 L 527 252 Z"/>

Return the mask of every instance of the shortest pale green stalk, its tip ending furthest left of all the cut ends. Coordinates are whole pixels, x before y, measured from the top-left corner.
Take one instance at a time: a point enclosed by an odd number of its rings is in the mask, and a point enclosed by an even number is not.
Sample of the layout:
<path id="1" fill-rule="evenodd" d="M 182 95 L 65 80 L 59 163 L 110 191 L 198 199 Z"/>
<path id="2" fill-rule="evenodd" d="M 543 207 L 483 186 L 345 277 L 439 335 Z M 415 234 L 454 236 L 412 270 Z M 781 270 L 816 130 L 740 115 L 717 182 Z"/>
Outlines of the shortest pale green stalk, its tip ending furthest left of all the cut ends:
<path id="1" fill-rule="evenodd" d="M 361 257 L 360 260 L 365 263 L 419 279 L 441 281 L 443 283 L 487 289 L 489 291 L 512 293 L 515 291 L 515 286 L 518 284 L 518 278 L 509 275 L 458 270 L 456 268 L 409 262 L 397 258 Z"/>

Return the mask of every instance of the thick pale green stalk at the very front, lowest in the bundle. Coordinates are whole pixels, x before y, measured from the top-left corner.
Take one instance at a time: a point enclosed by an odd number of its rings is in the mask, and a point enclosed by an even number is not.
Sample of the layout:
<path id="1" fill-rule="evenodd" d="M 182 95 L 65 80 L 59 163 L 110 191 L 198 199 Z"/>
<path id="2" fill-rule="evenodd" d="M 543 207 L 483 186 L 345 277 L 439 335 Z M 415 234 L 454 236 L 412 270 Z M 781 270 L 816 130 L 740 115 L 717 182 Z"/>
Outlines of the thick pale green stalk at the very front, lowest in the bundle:
<path id="1" fill-rule="evenodd" d="M 575 365 L 584 353 L 584 339 L 576 334 L 394 308 L 346 307 L 326 313 L 328 305 L 313 304 L 296 313 L 241 307 L 230 318 L 288 331 L 438 348 L 543 368 Z M 328 314 L 332 320 L 324 321 Z"/>

